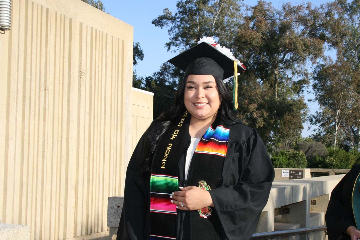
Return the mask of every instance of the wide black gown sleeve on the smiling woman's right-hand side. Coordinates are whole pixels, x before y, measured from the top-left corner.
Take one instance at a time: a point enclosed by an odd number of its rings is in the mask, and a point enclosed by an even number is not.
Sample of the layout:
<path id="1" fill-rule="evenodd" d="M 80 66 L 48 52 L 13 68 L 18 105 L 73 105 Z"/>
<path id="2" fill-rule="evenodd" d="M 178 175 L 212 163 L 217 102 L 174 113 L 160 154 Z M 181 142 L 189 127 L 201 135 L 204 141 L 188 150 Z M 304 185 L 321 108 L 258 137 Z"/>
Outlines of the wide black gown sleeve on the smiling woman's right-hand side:
<path id="1" fill-rule="evenodd" d="M 238 153 L 233 156 L 233 161 L 238 161 L 237 184 L 223 185 L 209 192 L 227 239 L 248 240 L 267 203 L 275 173 L 255 130 L 247 141 L 240 143 Z"/>

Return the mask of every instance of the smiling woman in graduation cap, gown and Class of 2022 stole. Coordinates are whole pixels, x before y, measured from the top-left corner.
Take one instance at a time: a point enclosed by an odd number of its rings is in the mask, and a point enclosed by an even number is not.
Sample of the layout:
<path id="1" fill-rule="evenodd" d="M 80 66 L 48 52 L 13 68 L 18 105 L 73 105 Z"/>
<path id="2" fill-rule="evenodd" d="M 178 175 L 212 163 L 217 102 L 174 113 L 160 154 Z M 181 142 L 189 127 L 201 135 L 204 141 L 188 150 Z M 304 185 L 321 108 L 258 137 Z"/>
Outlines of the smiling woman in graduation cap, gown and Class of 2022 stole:
<path id="1" fill-rule="evenodd" d="M 212 38 L 198 43 L 168 61 L 184 80 L 132 154 L 117 239 L 248 240 L 267 203 L 273 165 L 222 81 L 245 67 Z"/>

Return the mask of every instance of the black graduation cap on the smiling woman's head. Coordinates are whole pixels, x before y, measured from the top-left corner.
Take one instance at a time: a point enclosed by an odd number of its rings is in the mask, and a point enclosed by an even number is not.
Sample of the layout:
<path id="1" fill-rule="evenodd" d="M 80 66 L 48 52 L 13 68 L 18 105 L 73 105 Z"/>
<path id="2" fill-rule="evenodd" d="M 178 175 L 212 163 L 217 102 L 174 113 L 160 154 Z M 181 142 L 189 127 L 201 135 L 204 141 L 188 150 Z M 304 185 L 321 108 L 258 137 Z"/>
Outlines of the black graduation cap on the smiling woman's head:
<path id="1" fill-rule="evenodd" d="M 234 60 L 207 42 L 201 42 L 168 62 L 183 70 L 185 75 L 213 75 L 221 80 L 234 75 Z M 243 65 L 238 64 L 238 72 L 243 71 Z"/>

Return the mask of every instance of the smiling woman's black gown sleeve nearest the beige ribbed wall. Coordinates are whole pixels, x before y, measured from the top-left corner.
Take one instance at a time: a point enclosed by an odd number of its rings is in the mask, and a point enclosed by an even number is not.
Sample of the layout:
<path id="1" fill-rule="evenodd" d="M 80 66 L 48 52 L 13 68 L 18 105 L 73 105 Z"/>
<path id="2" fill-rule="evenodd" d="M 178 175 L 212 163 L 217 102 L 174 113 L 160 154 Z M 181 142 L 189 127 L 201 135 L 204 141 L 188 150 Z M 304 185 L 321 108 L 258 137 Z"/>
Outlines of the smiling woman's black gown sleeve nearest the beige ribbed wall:
<path id="1" fill-rule="evenodd" d="M 147 155 L 148 131 L 140 138 L 126 170 L 124 204 L 117 231 L 118 240 L 149 239 L 149 180 L 141 174 L 141 163 Z"/>

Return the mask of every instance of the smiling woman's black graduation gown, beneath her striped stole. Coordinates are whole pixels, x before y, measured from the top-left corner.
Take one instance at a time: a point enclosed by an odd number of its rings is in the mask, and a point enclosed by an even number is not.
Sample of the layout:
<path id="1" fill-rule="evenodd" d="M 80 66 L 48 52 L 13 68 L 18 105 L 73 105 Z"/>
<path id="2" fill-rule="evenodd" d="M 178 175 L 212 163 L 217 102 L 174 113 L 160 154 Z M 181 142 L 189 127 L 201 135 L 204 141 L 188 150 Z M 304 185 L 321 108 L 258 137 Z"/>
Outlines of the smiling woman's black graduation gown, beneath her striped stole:
<path id="1" fill-rule="evenodd" d="M 145 132 L 127 167 L 117 239 L 149 239 L 150 180 L 141 175 L 147 141 L 148 133 Z M 179 160 L 179 186 L 184 184 L 184 158 L 185 153 Z M 241 123 L 231 125 L 221 186 L 209 191 L 221 222 L 220 239 L 251 239 L 267 203 L 274 176 L 273 164 L 256 131 Z M 190 223 L 184 212 L 178 210 L 177 239 L 188 240 Z M 183 224 L 180 221 L 184 221 Z"/>

